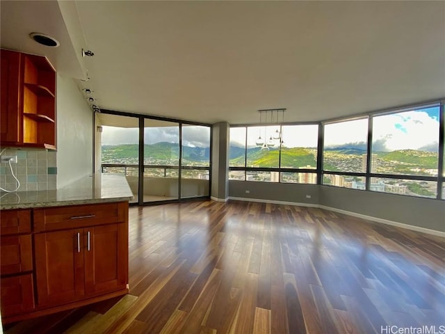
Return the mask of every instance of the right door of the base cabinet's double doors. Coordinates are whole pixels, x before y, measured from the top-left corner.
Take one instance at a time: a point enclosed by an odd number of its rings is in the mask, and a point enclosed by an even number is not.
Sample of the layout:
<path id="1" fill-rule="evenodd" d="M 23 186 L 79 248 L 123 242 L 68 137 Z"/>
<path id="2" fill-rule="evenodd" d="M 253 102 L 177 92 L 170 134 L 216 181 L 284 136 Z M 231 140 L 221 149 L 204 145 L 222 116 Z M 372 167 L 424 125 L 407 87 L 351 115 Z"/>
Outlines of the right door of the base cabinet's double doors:
<path id="1" fill-rule="evenodd" d="M 84 228 L 85 292 L 124 289 L 128 277 L 128 231 L 125 223 Z"/>

